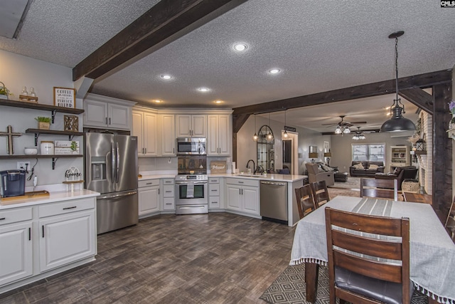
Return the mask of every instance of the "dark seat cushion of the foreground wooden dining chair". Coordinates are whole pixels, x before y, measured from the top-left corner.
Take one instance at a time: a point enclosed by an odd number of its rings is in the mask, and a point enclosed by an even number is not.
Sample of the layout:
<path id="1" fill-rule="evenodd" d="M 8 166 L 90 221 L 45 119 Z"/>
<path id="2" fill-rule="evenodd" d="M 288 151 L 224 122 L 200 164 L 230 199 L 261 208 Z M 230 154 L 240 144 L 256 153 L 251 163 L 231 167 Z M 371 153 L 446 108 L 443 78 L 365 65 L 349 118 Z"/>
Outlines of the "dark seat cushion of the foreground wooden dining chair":
<path id="1" fill-rule="evenodd" d="M 382 303 L 401 304 L 402 302 L 402 286 L 400 283 L 362 276 L 338 266 L 335 266 L 335 283 L 338 288 L 364 295 Z M 410 281 L 410 298 L 412 298 L 412 293 L 414 293 L 414 284 Z"/>

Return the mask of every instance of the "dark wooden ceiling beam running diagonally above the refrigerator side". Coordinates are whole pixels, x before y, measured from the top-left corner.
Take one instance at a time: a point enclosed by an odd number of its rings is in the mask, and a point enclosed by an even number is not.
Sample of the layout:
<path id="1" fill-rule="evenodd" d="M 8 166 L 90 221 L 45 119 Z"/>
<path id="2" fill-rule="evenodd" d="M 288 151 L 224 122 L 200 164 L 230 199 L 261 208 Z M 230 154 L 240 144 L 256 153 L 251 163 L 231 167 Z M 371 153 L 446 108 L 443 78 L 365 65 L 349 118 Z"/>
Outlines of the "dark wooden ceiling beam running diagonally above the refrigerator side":
<path id="1" fill-rule="evenodd" d="M 247 0 L 161 0 L 73 68 L 97 80 L 138 61 Z"/>

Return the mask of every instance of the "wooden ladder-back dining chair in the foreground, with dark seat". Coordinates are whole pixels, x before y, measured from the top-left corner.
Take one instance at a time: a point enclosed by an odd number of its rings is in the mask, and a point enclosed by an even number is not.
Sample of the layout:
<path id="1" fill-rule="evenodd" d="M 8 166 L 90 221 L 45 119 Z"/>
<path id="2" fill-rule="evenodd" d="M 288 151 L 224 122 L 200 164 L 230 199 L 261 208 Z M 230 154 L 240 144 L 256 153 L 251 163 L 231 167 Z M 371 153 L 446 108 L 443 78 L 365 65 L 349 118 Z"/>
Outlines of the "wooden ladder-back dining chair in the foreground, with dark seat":
<path id="1" fill-rule="evenodd" d="M 330 303 L 410 303 L 410 220 L 325 211 Z"/>

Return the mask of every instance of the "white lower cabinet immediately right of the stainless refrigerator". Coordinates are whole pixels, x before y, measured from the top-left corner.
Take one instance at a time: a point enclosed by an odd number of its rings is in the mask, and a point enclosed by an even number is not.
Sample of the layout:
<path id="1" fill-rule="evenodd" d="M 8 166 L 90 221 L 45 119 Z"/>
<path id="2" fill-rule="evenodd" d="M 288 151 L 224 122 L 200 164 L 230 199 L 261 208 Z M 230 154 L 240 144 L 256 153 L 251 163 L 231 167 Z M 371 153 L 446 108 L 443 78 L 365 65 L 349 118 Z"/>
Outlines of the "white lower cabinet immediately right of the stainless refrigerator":
<path id="1" fill-rule="evenodd" d="M 139 216 L 159 212 L 159 179 L 139 181 Z"/>

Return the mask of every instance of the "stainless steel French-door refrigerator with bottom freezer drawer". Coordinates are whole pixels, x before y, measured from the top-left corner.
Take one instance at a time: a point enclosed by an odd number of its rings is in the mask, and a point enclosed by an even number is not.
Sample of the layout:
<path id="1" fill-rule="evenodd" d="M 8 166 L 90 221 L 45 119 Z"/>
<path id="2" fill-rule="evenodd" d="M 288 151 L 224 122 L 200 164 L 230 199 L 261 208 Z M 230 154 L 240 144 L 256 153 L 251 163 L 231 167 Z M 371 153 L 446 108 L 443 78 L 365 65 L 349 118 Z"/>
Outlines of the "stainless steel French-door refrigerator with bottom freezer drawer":
<path id="1" fill-rule="evenodd" d="M 137 224 L 137 137 L 85 133 L 85 188 L 97 197 L 97 233 Z"/>

